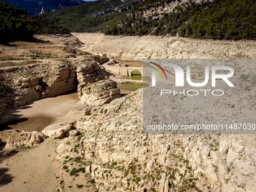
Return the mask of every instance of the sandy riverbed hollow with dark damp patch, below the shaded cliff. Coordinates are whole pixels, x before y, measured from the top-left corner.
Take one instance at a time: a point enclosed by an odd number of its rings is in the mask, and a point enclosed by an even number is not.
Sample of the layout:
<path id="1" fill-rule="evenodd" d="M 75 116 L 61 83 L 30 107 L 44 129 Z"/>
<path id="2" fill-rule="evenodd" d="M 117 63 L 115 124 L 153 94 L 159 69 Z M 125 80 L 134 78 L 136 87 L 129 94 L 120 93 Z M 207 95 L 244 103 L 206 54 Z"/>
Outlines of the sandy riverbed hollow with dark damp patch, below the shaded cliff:
<path id="1" fill-rule="evenodd" d="M 52 123 L 78 120 L 83 114 L 83 107 L 78 102 L 78 93 L 41 99 L 5 114 L 0 120 L 0 129 L 40 132 Z"/>

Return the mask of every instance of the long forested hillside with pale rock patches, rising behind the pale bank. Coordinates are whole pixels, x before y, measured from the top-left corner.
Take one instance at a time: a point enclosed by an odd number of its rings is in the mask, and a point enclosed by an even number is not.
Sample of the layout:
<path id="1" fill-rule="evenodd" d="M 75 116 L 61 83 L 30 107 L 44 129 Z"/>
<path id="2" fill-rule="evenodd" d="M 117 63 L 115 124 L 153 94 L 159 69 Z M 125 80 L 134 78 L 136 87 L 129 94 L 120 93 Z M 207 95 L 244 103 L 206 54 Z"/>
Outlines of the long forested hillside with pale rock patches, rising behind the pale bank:
<path id="1" fill-rule="evenodd" d="M 256 6 L 252 0 L 99 0 L 48 13 L 45 18 L 72 32 L 178 34 L 234 40 L 255 39 L 256 36 Z"/>

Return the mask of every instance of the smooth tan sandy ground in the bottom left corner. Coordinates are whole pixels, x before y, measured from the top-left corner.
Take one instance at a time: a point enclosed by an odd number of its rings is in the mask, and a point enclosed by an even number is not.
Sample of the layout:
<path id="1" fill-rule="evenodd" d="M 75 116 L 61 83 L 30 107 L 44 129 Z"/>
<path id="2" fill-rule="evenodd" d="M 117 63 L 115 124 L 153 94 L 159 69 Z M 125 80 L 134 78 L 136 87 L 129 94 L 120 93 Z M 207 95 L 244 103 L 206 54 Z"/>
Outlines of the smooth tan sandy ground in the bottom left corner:
<path id="1" fill-rule="evenodd" d="M 41 145 L 3 159 L 0 156 L 0 191 L 51 192 L 58 186 L 60 163 L 54 160 L 58 140 L 46 139 Z"/>

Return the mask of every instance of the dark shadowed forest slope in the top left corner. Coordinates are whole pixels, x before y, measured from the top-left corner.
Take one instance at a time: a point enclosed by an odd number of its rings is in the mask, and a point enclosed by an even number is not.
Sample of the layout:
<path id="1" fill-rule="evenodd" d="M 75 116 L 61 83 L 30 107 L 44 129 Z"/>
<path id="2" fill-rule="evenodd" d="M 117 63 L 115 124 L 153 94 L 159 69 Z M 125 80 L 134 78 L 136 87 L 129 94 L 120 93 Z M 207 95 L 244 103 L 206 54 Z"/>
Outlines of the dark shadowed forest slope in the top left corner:
<path id="1" fill-rule="evenodd" d="M 33 17 L 23 9 L 0 1 L 0 43 L 34 41 L 33 34 L 54 33 L 69 33 L 69 30 L 49 23 L 44 16 Z"/>

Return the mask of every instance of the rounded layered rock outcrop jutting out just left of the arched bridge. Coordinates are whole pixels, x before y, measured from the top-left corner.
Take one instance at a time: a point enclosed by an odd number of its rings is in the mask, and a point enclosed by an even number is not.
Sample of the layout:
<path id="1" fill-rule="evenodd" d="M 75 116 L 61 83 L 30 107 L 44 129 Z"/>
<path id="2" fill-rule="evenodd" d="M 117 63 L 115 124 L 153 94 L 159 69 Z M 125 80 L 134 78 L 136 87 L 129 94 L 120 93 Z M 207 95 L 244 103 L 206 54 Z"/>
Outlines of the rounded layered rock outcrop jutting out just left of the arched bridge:
<path id="1" fill-rule="evenodd" d="M 120 96 L 117 83 L 108 79 L 105 69 L 96 62 L 78 67 L 78 96 L 82 105 L 104 105 Z"/>

